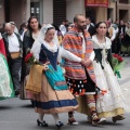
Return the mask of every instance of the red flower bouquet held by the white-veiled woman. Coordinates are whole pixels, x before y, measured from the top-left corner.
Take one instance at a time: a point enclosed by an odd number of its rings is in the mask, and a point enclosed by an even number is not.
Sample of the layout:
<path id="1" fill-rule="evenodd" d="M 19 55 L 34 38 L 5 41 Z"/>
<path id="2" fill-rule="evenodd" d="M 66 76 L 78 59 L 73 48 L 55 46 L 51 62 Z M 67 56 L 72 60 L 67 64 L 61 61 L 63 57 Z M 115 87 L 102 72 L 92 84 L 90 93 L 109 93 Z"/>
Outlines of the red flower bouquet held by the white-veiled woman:
<path id="1" fill-rule="evenodd" d="M 32 64 L 40 64 L 39 61 L 35 58 L 32 53 L 28 53 L 25 56 L 25 63 L 28 63 L 30 65 L 32 65 Z"/>

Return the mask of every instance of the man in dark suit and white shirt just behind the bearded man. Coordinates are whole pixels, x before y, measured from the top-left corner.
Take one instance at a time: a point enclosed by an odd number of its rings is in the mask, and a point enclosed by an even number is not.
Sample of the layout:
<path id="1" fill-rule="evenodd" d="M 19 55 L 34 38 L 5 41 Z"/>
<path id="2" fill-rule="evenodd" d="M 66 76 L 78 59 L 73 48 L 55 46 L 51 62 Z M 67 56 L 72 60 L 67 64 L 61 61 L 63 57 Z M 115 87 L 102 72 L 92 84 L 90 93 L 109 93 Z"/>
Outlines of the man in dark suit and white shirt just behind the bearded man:
<path id="1" fill-rule="evenodd" d="M 87 17 L 87 30 L 89 31 L 91 37 L 95 34 L 95 28 L 94 25 L 91 24 L 90 17 Z"/>

